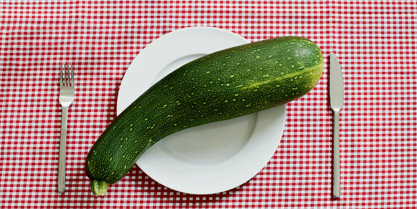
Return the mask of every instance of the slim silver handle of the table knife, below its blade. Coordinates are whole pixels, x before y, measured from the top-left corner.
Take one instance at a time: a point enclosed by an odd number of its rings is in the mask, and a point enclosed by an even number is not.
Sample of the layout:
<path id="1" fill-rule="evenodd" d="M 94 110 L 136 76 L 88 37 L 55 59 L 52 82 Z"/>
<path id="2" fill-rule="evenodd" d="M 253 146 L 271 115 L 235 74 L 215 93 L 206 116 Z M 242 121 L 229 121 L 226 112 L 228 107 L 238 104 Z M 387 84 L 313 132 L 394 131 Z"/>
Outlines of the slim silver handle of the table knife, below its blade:
<path id="1" fill-rule="evenodd" d="M 339 111 L 333 111 L 333 196 L 340 196 Z"/>

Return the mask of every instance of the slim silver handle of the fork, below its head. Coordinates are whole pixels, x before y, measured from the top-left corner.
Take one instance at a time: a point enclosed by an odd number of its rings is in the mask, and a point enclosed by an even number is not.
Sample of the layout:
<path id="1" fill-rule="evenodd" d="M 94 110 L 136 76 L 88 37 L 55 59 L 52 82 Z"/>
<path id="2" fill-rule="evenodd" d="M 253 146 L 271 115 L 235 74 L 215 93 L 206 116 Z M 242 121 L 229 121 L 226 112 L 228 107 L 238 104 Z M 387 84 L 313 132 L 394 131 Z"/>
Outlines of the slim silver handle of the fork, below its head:
<path id="1" fill-rule="evenodd" d="M 62 106 L 61 139 L 59 140 L 58 192 L 65 192 L 66 120 L 68 106 Z"/>

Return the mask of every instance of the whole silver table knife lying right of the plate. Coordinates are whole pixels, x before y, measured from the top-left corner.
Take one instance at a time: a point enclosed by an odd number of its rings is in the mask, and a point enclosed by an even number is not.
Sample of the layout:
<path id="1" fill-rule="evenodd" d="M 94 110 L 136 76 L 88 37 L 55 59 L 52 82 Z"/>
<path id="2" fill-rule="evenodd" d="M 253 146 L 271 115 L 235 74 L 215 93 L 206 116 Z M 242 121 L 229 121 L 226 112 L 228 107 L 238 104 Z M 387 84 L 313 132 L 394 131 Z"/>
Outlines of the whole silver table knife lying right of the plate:
<path id="1" fill-rule="evenodd" d="M 333 120 L 333 196 L 340 196 L 339 111 L 343 107 L 343 76 L 338 58 L 330 53 L 330 107 Z"/>

